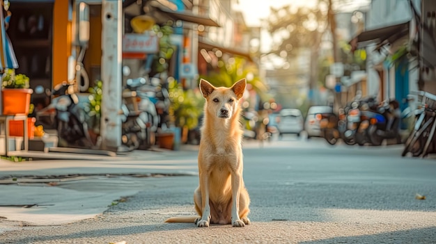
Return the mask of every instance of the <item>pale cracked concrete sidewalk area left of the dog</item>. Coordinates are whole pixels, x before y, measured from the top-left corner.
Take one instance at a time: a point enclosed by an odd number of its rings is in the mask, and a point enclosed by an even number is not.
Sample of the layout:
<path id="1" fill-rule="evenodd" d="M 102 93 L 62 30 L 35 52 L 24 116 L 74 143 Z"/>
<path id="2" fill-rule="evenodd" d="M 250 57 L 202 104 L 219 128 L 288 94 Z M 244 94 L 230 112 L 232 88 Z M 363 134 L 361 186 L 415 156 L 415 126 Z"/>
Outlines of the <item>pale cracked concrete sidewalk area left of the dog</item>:
<path id="1" fill-rule="evenodd" d="M 196 161 L 171 164 L 165 158 L 196 154 L 196 148 L 137 150 L 93 160 L 76 154 L 70 160 L 1 159 L 0 233 L 17 226 L 63 225 L 93 218 L 123 197 L 138 193 L 150 177 L 195 175 Z"/>

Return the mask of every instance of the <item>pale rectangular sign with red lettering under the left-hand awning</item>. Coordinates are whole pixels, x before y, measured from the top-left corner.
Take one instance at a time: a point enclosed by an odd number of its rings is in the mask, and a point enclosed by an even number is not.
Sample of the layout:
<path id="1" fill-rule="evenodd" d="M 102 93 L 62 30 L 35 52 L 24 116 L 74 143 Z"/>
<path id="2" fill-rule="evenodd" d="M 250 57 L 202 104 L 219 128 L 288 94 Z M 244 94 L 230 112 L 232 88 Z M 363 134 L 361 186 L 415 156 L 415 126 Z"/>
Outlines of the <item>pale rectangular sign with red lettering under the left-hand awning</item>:
<path id="1" fill-rule="evenodd" d="M 159 38 L 149 33 L 127 33 L 123 36 L 123 53 L 155 54 L 159 51 Z"/>

